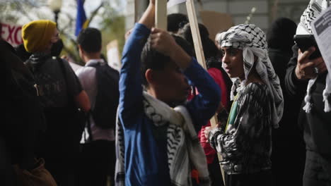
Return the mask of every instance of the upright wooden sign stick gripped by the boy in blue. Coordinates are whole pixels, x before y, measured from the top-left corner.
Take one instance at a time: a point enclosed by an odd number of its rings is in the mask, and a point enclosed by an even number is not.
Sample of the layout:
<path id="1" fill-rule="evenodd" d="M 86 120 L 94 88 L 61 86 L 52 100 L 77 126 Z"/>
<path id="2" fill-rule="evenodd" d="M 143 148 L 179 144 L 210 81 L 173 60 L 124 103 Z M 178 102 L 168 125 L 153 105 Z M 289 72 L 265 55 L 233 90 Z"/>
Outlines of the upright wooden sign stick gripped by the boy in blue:
<path id="1" fill-rule="evenodd" d="M 156 0 L 155 27 L 167 30 L 167 0 Z"/>

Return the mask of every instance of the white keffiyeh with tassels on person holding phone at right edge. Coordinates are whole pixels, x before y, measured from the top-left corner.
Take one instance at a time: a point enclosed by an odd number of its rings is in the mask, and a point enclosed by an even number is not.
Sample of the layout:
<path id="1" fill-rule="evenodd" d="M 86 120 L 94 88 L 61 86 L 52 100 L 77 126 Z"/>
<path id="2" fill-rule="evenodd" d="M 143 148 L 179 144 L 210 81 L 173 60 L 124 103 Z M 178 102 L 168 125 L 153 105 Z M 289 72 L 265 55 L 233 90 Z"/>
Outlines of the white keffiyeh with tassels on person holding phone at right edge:
<path id="1" fill-rule="evenodd" d="M 296 29 L 296 35 L 312 35 L 313 30 L 311 30 L 311 22 L 317 18 L 322 11 L 324 11 L 327 7 L 330 6 L 330 0 L 310 0 L 308 7 L 303 12 L 300 23 Z M 325 103 L 324 111 L 329 112 L 331 111 L 331 105 L 327 99 L 328 96 L 331 94 L 331 79 L 330 75 L 326 77 L 326 85 L 323 91 L 323 101 Z M 317 80 L 317 77 L 310 79 L 307 86 L 307 94 L 305 97 L 306 105 L 303 106 L 303 110 L 306 113 L 310 113 L 312 104 L 310 103 L 311 93 L 310 89 L 313 87 Z"/>

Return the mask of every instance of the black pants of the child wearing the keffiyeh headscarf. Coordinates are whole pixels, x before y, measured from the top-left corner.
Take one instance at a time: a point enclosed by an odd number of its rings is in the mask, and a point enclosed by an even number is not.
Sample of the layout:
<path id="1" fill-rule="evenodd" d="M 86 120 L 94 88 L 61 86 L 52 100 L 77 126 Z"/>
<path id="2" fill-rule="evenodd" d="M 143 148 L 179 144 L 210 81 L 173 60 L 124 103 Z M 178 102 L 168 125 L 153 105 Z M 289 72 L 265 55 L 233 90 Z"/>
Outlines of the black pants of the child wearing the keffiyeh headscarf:
<path id="1" fill-rule="evenodd" d="M 271 170 L 252 174 L 225 175 L 226 186 L 271 186 Z"/>

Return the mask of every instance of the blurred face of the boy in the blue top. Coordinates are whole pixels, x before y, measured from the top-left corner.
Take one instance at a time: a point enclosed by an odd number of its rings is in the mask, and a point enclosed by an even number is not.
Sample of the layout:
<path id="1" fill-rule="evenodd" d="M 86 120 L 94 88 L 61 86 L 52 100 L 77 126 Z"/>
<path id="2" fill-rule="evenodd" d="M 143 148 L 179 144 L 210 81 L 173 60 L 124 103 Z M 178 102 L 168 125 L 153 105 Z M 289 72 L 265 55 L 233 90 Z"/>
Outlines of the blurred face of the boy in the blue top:
<path id="1" fill-rule="evenodd" d="M 157 88 L 160 98 L 165 103 L 182 102 L 190 93 L 190 85 L 182 70 L 174 61 L 165 65 L 163 70 L 156 73 Z"/>

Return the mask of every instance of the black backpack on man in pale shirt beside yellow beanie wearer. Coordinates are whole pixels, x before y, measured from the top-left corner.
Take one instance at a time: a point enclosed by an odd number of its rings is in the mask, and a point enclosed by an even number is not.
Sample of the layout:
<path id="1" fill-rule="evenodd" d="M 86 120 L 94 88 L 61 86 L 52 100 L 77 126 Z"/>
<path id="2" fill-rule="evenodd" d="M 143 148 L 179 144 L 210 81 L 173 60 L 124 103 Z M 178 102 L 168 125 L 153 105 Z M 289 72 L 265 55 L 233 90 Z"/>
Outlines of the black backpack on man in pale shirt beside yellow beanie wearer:
<path id="1" fill-rule="evenodd" d="M 115 128 L 118 101 L 120 99 L 120 73 L 107 63 L 90 63 L 96 69 L 97 95 L 91 114 L 95 125 L 102 129 Z"/>

